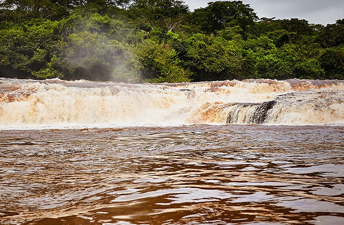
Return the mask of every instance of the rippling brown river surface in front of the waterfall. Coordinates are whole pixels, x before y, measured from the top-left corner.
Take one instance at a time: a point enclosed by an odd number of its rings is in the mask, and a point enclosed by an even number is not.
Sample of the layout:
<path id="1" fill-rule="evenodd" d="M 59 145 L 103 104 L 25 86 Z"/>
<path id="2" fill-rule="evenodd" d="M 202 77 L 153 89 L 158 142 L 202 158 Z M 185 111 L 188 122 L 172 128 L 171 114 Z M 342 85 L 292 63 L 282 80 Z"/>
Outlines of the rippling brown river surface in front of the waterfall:
<path id="1" fill-rule="evenodd" d="M 0 224 L 344 224 L 344 127 L 0 132 Z"/>

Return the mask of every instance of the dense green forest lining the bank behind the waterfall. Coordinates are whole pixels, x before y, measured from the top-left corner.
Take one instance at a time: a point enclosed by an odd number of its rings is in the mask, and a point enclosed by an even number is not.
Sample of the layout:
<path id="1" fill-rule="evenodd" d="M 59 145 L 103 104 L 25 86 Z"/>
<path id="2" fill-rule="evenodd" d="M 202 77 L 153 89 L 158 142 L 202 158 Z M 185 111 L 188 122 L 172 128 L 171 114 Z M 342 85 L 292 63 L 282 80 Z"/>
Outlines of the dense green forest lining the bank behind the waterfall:
<path id="1" fill-rule="evenodd" d="M 258 18 L 242 1 L 0 0 L 0 76 L 344 79 L 344 19 Z"/>

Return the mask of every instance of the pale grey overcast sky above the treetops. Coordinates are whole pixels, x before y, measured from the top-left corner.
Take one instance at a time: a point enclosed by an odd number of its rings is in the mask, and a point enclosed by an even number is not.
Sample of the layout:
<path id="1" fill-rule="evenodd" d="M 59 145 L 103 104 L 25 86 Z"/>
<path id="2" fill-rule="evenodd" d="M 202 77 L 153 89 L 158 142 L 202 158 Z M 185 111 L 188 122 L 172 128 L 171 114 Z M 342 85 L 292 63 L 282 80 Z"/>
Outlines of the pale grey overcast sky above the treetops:
<path id="1" fill-rule="evenodd" d="M 184 0 L 191 11 L 216 0 Z M 306 19 L 310 24 L 334 24 L 344 18 L 344 0 L 242 0 L 259 18 Z"/>

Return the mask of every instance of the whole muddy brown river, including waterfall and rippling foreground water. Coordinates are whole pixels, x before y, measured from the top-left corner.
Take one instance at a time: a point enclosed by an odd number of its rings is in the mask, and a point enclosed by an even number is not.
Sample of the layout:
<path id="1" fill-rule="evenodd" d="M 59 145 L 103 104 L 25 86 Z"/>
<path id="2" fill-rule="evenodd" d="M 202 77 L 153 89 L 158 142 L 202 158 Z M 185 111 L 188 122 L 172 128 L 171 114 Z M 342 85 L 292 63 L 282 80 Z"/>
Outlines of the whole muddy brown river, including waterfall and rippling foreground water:
<path id="1" fill-rule="evenodd" d="M 344 81 L 0 79 L 0 224 L 344 224 Z"/>

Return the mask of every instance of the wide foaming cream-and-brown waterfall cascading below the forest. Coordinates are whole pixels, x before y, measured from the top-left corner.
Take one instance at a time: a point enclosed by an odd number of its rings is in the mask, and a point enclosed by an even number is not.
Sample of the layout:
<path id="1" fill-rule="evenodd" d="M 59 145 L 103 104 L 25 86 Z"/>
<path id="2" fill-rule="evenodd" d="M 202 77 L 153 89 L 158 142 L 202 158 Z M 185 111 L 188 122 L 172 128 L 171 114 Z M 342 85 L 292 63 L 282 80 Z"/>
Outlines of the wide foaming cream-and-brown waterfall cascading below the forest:
<path id="1" fill-rule="evenodd" d="M 344 81 L 173 84 L 0 79 L 0 128 L 343 124 Z"/>

